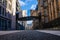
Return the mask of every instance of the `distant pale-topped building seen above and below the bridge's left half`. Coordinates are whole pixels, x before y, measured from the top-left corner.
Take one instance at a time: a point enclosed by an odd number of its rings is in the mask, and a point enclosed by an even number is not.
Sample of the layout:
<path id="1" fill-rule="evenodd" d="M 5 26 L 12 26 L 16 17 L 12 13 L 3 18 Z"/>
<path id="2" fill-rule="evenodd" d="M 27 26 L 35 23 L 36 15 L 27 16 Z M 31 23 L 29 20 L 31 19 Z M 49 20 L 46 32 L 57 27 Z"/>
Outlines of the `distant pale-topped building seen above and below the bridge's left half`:
<path id="1" fill-rule="evenodd" d="M 20 8 L 18 8 L 18 9 L 20 9 Z M 26 13 L 27 13 L 26 10 L 18 10 L 16 19 L 21 18 L 21 17 L 26 17 L 27 16 Z M 19 20 L 17 20 L 17 26 L 16 26 L 17 29 L 24 30 L 24 29 L 26 29 L 26 26 L 27 26 L 27 21 L 19 21 Z"/>

